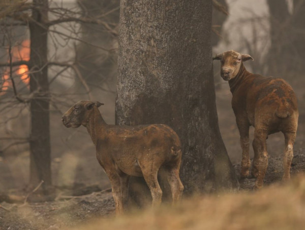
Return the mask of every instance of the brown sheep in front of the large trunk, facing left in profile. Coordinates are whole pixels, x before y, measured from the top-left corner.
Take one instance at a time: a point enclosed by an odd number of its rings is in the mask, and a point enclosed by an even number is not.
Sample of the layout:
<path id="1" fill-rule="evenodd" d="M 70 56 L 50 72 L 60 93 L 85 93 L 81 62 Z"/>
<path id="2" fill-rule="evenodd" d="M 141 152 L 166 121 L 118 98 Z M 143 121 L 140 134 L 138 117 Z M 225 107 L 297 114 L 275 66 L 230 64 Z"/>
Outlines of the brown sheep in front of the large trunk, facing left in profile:
<path id="1" fill-rule="evenodd" d="M 167 175 L 172 202 L 181 199 L 184 186 L 179 178 L 181 143 L 178 135 L 161 124 L 118 126 L 107 125 L 98 109 L 102 103 L 79 101 L 62 117 L 69 128 L 83 125 L 96 146 L 97 160 L 106 172 L 112 187 L 116 214 L 123 213 L 128 202 L 130 176 L 144 177 L 153 198 L 153 207 L 159 206 L 162 190 L 158 171 Z"/>

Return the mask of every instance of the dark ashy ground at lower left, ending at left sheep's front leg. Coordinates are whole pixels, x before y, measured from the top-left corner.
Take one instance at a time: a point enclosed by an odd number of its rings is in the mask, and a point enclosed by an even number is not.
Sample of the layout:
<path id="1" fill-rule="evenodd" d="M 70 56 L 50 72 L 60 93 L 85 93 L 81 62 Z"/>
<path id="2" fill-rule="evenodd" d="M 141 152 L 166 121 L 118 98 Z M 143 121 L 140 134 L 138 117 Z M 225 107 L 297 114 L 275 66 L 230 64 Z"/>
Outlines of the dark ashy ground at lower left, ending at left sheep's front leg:
<path id="1" fill-rule="evenodd" d="M 93 221 L 114 212 L 109 191 L 68 200 L 14 205 L 2 203 L 0 229 L 62 229 Z"/>

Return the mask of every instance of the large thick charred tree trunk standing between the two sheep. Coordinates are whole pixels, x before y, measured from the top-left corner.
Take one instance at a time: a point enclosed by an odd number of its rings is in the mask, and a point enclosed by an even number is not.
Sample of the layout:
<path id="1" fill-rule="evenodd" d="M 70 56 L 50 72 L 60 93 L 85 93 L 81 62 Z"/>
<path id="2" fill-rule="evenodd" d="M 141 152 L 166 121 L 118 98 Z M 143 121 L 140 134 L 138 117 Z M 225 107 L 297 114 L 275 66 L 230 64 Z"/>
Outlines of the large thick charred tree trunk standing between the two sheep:
<path id="1" fill-rule="evenodd" d="M 211 0 L 120 3 L 116 123 L 172 127 L 186 193 L 238 186 L 218 126 L 211 13 Z"/>

